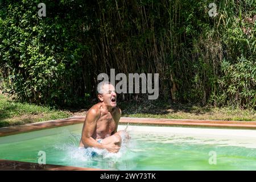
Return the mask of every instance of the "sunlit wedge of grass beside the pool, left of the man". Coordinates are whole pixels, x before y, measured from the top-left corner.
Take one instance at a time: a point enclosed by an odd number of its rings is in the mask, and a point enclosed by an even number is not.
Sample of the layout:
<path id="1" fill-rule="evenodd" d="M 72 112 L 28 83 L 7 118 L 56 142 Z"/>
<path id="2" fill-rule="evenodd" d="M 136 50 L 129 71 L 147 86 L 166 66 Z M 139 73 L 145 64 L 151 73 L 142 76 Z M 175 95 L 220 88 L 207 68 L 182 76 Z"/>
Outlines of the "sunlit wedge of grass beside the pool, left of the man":
<path id="1" fill-rule="evenodd" d="M 0 127 L 71 117 L 71 113 L 11 100 L 0 94 Z"/>

